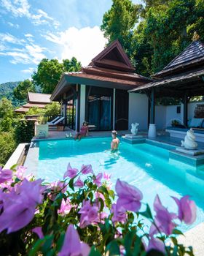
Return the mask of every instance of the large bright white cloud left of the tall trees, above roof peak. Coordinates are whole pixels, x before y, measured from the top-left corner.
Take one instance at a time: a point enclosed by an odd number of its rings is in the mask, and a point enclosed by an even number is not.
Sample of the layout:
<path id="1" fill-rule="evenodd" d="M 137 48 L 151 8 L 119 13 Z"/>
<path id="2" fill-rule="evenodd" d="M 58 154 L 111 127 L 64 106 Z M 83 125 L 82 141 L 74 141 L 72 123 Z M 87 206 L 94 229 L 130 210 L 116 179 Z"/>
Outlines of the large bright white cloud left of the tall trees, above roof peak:
<path id="1" fill-rule="evenodd" d="M 71 59 L 74 56 L 83 66 L 89 64 L 106 44 L 106 39 L 98 26 L 82 29 L 71 27 L 58 34 L 48 33 L 42 37 L 61 45 L 61 59 Z"/>

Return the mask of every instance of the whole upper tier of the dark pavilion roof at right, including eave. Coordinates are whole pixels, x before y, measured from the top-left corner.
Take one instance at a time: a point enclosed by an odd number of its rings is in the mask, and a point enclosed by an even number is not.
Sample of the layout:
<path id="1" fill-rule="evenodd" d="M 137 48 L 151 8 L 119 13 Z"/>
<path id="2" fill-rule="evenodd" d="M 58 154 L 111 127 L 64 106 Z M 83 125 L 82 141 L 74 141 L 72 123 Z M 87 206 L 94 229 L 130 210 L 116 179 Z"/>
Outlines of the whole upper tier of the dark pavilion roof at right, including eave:
<path id="1" fill-rule="evenodd" d="M 164 69 L 152 75 L 152 78 L 163 78 L 178 72 L 185 72 L 200 64 L 204 64 L 204 44 L 200 40 L 196 40 L 170 61 Z"/>

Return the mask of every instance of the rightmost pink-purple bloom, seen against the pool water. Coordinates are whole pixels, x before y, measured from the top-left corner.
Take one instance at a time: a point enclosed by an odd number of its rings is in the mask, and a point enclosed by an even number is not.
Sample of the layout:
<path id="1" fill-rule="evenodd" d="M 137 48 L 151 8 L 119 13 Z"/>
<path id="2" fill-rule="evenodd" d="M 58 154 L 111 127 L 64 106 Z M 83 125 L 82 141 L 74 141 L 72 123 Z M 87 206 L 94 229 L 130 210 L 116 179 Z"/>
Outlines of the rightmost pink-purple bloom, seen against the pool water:
<path id="1" fill-rule="evenodd" d="M 195 222 L 196 206 L 194 201 L 189 200 L 189 195 L 181 197 L 180 200 L 173 197 L 173 200 L 175 200 L 178 206 L 178 219 L 189 225 Z"/>

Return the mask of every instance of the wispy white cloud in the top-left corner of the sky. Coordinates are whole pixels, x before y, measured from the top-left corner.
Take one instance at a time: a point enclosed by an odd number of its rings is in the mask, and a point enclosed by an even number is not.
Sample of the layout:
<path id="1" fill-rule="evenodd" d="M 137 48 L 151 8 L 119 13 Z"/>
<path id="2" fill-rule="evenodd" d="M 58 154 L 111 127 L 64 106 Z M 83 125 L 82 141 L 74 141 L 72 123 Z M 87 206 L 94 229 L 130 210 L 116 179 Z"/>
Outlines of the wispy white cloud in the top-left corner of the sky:
<path id="1" fill-rule="evenodd" d="M 59 26 L 57 20 L 50 17 L 47 12 L 41 9 L 36 10 L 36 13 L 31 12 L 31 6 L 28 4 L 28 0 L 1 0 L 1 7 L 4 7 L 4 9 L 10 12 L 14 17 L 28 18 L 34 25 L 50 25 L 50 23 L 52 23 L 55 28 Z"/>

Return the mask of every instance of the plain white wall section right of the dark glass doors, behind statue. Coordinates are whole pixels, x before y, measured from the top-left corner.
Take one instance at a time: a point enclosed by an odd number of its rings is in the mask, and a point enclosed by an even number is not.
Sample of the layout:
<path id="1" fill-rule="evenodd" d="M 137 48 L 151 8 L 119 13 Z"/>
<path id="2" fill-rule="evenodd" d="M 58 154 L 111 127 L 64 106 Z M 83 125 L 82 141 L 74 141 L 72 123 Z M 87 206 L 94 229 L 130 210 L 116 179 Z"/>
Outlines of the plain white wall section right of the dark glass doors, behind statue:
<path id="1" fill-rule="evenodd" d="M 129 129 L 132 123 L 139 123 L 138 129 L 147 129 L 148 98 L 145 94 L 129 94 Z"/>

